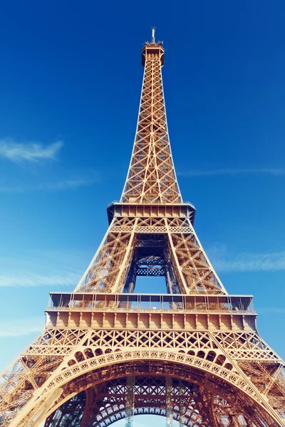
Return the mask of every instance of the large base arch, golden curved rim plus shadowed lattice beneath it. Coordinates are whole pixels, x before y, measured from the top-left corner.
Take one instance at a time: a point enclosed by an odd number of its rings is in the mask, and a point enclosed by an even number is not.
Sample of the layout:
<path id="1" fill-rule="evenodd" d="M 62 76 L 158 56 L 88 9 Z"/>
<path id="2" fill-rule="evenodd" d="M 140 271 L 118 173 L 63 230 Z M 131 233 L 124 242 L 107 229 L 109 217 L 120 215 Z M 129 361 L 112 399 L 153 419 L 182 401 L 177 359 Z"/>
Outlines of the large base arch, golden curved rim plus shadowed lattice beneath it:
<path id="1" fill-rule="evenodd" d="M 239 371 L 202 355 L 132 350 L 78 359 L 70 359 L 71 366 L 54 375 L 41 397 L 29 401 L 26 416 L 11 425 L 36 427 L 46 419 L 52 427 L 104 427 L 153 413 L 192 427 L 281 426 Z M 58 397 L 43 413 L 52 395 Z"/>

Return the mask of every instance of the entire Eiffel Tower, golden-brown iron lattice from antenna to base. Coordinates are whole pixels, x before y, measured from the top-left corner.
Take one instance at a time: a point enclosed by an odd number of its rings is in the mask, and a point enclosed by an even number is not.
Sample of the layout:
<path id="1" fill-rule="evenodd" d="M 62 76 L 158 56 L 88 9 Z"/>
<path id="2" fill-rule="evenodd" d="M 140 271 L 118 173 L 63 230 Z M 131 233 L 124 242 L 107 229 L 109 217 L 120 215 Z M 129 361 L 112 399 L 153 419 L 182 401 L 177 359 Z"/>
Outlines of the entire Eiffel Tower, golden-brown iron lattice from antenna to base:
<path id="1" fill-rule="evenodd" d="M 162 65 L 142 48 L 138 125 L 120 202 L 74 292 L 52 293 L 46 327 L 2 374 L 0 427 L 285 426 L 284 362 L 257 332 L 251 295 L 229 295 L 182 201 Z M 163 276 L 167 293 L 134 293 Z"/>

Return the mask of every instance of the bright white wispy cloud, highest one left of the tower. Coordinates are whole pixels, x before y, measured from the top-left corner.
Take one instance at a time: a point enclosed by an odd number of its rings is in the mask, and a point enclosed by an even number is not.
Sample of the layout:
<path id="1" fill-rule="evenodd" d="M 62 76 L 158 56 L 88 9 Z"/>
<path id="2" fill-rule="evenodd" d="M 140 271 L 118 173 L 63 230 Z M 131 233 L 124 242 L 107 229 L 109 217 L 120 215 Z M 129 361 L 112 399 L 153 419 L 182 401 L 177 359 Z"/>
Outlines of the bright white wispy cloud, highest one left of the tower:
<path id="1" fill-rule="evenodd" d="M 56 141 L 45 146 L 39 142 L 28 142 L 23 144 L 8 139 L 1 139 L 0 157 L 9 159 L 14 163 L 55 160 L 62 146 L 62 141 Z"/>

